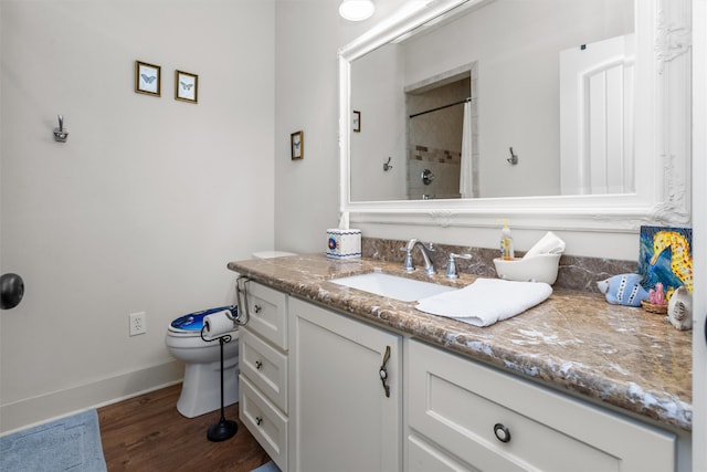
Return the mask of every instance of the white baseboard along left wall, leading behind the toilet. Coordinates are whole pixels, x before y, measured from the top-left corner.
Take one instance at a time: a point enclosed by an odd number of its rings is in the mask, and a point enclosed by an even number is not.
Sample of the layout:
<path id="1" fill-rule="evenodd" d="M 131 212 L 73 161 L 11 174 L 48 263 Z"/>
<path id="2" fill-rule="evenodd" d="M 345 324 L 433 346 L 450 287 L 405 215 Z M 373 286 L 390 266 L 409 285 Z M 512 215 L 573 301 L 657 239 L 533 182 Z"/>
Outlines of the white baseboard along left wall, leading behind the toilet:
<path id="1" fill-rule="evenodd" d="M 178 360 L 0 406 L 0 436 L 180 382 Z"/>

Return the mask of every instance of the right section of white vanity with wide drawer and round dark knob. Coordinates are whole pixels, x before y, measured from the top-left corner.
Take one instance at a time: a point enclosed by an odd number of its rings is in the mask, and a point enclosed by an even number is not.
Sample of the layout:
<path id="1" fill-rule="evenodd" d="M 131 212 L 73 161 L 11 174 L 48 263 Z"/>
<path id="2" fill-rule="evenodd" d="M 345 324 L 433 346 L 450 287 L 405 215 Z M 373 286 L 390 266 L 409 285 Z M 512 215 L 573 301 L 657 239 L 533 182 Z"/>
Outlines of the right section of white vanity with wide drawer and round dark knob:
<path id="1" fill-rule="evenodd" d="M 676 437 L 426 344 L 405 352 L 405 470 L 673 471 Z"/>

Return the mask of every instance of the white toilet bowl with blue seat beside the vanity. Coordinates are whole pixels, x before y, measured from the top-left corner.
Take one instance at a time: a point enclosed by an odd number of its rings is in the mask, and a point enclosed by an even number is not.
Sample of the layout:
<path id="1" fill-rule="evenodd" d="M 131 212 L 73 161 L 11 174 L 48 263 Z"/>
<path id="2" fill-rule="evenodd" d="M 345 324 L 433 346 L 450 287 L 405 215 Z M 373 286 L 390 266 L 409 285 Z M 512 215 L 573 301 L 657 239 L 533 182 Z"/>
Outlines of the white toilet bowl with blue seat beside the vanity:
<path id="1" fill-rule="evenodd" d="M 219 340 L 201 338 L 203 317 L 228 307 L 213 308 L 180 316 L 170 323 L 165 335 L 169 353 L 184 363 L 184 379 L 177 410 L 187 418 L 221 408 L 221 353 Z M 231 342 L 223 344 L 223 405 L 239 400 L 239 331 L 229 333 Z"/>

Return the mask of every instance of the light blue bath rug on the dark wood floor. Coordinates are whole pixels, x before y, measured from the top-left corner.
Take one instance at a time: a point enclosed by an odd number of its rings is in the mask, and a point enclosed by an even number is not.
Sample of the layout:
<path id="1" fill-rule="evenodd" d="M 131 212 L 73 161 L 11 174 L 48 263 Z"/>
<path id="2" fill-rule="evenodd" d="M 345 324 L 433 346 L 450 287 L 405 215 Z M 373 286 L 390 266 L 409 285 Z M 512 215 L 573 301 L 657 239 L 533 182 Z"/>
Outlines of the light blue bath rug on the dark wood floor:
<path id="1" fill-rule="evenodd" d="M 96 410 L 0 438 L 0 471 L 104 472 Z"/>

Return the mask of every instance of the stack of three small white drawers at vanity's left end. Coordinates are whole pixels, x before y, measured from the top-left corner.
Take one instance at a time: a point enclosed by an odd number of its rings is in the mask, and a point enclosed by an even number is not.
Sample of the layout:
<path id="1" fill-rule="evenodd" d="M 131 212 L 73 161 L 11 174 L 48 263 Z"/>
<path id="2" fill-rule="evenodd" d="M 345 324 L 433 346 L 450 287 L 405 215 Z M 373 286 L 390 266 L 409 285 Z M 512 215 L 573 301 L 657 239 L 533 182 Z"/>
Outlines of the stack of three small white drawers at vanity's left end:
<path id="1" fill-rule="evenodd" d="M 287 471 L 287 302 L 282 292 L 246 283 L 250 319 L 239 334 L 239 415 L 283 472 Z"/>

